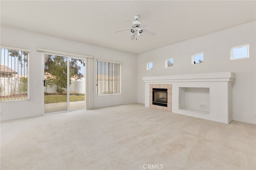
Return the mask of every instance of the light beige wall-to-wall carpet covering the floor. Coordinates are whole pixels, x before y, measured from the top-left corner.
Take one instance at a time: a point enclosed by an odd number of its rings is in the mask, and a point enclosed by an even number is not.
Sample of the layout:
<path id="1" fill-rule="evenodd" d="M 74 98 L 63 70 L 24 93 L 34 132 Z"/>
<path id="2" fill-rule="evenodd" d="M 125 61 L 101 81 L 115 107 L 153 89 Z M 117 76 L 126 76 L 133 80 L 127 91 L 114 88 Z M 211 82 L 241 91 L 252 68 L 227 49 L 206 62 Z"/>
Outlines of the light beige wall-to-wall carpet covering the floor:
<path id="1" fill-rule="evenodd" d="M 2 170 L 143 170 L 149 165 L 256 169 L 256 126 L 226 125 L 139 103 L 1 122 Z"/>

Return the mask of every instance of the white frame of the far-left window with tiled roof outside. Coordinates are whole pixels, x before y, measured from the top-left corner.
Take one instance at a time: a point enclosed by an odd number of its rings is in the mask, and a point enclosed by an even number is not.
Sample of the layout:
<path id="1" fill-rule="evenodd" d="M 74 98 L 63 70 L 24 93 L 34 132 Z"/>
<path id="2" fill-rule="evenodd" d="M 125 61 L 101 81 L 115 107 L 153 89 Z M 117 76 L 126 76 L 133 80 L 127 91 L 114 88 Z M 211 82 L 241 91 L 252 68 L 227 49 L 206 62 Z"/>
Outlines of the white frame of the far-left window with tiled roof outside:
<path id="1" fill-rule="evenodd" d="M 30 49 L 20 48 L 20 47 L 11 47 L 6 45 L 0 45 L 0 49 L 8 49 L 15 50 L 15 51 L 24 51 L 27 52 L 27 68 L 26 68 L 26 75 L 27 75 L 27 97 L 26 99 L 14 99 L 14 100 L 0 100 L 0 102 L 17 102 L 17 101 L 28 101 L 30 100 Z"/>

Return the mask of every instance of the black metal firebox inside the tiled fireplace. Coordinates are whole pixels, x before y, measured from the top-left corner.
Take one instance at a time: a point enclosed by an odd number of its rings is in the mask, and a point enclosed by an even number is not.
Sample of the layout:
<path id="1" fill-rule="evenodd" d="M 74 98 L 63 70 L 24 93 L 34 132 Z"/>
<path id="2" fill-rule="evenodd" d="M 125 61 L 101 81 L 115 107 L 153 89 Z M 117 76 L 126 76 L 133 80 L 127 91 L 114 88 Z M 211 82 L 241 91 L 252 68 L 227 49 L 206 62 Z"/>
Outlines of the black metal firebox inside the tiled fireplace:
<path id="1" fill-rule="evenodd" d="M 167 89 L 152 89 L 152 104 L 167 107 Z"/>

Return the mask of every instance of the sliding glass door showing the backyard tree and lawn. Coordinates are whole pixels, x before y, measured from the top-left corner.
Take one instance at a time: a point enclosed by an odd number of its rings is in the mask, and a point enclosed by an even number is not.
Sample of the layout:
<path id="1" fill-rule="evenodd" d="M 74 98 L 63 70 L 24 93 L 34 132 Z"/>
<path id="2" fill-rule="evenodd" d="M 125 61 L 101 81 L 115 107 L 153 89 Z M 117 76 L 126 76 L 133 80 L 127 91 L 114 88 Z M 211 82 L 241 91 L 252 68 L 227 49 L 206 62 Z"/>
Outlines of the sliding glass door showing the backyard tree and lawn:
<path id="1" fill-rule="evenodd" d="M 44 54 L 44 113 L 85 108 L 85 62 Z"/>

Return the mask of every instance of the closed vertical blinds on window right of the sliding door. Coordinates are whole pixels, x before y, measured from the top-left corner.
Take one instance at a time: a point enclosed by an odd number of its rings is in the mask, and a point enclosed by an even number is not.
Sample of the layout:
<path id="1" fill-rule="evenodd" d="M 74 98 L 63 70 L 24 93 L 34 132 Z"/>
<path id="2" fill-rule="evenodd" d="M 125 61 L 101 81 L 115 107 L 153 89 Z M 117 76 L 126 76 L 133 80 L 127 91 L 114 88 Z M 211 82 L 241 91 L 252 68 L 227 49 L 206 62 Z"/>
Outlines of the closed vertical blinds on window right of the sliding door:
<path id="1" fill-rule="evenodd" d="M 121 64 L 97 60 L 97 95 L 120 94 Z"/>

